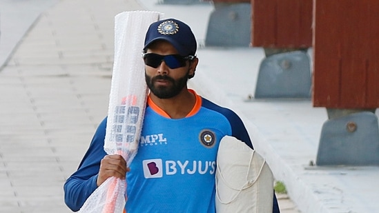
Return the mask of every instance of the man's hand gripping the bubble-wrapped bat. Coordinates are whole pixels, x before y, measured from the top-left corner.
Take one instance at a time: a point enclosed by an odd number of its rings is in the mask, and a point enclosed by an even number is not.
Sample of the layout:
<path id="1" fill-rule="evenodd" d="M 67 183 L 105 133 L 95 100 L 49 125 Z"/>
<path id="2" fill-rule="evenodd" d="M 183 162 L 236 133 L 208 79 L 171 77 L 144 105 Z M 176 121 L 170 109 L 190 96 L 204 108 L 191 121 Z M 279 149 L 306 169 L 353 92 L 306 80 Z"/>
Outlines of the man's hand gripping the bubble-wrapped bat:
<path id="1" fill-rule="evenodd" d="M 127 167 L 125 159 L 119 154 L 106 155 L 101 159 L 99 176 L 97 176 L 97 186 L 104 183 L 106 179 L 115 176 L 119 179 L 125 179 L 126 172 L 130 168 Z"/>

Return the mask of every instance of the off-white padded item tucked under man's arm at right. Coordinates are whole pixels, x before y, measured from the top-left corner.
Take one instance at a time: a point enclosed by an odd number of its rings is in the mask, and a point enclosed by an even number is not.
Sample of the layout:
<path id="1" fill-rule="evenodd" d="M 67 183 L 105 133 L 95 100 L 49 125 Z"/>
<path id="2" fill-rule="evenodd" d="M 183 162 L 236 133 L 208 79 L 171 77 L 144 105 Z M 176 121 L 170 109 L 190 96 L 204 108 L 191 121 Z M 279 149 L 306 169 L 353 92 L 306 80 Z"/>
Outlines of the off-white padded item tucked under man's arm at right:
<path id="1" fill-rule="evenodd" d="M 273 212 L 273 174 L 244 142 L 224 136 L 217 152 L 217 213 Z"/>

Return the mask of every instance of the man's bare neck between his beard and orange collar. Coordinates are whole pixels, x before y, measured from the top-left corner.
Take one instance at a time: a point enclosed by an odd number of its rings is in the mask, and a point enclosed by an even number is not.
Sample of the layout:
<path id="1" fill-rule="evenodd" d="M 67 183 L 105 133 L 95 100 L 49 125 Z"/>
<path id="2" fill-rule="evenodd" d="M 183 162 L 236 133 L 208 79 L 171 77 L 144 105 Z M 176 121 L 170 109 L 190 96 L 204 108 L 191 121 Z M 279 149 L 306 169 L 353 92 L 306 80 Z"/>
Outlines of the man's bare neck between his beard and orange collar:
<path id="1" fill-rule="evenodd" d="M 172 119 L 182 119 L 188 115 L 196 103 L 196 97 L 193 93 L 184 88 L 182 92 L 170 99 L 159 99 L 153 93 L 149 94 L 159 108 L 164 110 Z"/>

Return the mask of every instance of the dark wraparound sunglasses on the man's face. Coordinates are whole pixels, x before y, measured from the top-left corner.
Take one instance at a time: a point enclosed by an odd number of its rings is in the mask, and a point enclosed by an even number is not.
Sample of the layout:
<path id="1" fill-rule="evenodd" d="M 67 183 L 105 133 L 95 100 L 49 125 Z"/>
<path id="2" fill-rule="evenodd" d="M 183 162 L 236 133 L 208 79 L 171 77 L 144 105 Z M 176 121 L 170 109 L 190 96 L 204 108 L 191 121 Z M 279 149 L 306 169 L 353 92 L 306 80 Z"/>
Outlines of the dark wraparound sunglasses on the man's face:
<path id="1" fill-rule="evenodd" d="M 189 55 L 188 57 L 182 57 L 179 54 L 160 55 L 155 53 L 142 53 L 142 58 L 144 58 L 145 64 L 152 68 L 158 68 L 162 61 L 164 61 L 169 68 L 176 69 L 186 66 L 186 61 L 195 59 L 195 56 Z"/>

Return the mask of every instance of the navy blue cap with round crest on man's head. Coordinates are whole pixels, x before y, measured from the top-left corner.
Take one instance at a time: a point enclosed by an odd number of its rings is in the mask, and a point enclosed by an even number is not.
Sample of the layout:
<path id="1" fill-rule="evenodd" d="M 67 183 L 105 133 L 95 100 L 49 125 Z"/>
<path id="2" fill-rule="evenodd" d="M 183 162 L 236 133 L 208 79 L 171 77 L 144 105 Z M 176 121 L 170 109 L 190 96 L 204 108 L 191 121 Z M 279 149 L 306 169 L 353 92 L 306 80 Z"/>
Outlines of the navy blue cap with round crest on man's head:
<path id="1" fill-rule="evenodd" d="M 196 53 L 195 35 L 186 23 L 177 19 L 164 19 L 152 23 L 146 32 L 144 50 L 157 40 L 170 42 L 183 57 Z"/>

